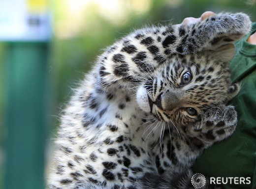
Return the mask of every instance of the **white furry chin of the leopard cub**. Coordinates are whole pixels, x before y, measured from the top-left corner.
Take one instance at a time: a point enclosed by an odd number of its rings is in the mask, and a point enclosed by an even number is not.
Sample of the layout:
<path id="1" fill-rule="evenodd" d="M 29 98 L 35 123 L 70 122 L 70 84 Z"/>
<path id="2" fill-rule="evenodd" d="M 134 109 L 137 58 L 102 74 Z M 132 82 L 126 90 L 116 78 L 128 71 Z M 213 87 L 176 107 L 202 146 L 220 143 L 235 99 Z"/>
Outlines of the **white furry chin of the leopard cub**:
<path id="1" fill-rule="evenodd" d="M 139 107 L 146 113 L 151 112 L 147 90 L 144 87 L 140 87 L 136 93 L 136 100 Z"/>

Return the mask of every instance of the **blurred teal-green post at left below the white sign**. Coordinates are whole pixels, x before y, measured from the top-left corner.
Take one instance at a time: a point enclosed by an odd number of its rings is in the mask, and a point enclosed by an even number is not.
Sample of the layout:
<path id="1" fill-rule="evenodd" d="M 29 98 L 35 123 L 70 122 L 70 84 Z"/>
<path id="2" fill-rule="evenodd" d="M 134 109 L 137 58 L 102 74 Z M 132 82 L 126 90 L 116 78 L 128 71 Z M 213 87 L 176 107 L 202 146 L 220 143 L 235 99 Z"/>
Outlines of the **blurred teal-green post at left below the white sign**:
<path id="1" fill-rule="evenodd" d="M 44 189 L 48 44 L 9 43 L 4 189 Z"/>

